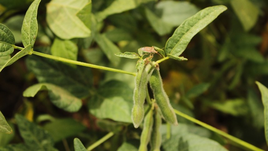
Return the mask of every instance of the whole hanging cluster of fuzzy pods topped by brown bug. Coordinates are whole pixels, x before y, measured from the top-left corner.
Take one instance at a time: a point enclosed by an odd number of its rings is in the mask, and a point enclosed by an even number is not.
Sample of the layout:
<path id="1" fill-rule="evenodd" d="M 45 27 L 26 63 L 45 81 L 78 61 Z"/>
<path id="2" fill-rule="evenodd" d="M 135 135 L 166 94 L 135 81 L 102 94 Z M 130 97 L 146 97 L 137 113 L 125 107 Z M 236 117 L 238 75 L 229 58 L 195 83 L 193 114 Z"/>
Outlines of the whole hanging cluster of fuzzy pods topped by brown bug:
<path id="1" fill-rule="evenodd" d="M 126 58 L 140 58 L 137 61 L 136 68 L 137 74 L 135 77 L 135 88 L 133 93 L 133 108 L 132 108 L 132 122 L 135 128 L 138 128 L 144 118 L 144 102 L 145 98 L 149 105 L 149 111 L 147 111 L 143 129 L 140 139 L 140 151 L 147 150 L 147 145 L 150 140 L 151 150 L 160 150 L 161 146 L 161 134 L 159 128 L 161 127 L 162 117 L 166 122 L 177 125 L 177 118 L 174 113 L 174 109 L 171 107 L 169 98 L 163 88 L 162 79 L 159 72 L 159 65 L 156 62 L 152 62 L 154 53 L 159 51 L 163 56 L 165 53 L 163 50 L 157 47 L 142 47 L 138 49 L 138 53 L 117 53 L 119 57 Z M 161 51 L 162 50 L 162 51 Z M 143 59 L 144 55 L 149 56 Z M 150 81 L 151 90 L 154 94 L 154 99 L 151 100 L 147 84 Z M 158 108 L 159 107 L 159 108 Z"/>

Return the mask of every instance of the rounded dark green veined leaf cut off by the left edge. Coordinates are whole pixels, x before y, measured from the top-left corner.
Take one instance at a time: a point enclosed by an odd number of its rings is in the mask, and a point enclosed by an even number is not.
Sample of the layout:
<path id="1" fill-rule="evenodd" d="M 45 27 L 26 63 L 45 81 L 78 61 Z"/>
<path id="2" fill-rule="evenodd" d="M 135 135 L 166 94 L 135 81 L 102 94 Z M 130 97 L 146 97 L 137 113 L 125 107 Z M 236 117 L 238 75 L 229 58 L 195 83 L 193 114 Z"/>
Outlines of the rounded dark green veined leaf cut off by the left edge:
<path id="1" fill-rule="evenodd" d="M 15 38 L 7 26 L 0 23 L 0 56 L 7 56 L 13 53 Z"/>

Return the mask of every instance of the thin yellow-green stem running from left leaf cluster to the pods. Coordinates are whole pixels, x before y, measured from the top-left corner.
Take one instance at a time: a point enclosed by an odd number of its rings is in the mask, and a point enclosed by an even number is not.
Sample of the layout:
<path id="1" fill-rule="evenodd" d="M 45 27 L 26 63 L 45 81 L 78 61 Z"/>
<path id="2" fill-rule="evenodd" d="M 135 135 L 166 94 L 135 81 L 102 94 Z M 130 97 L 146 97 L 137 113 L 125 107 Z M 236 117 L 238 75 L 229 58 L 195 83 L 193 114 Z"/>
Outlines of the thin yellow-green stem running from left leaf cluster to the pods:
<path id="1" fill-rule="evenodd" d="M 41 57 L 45 57 L 45 58 L 49 58 L 49 59 L 53 59 L 53 60 L 57 60 L 57 61 L 62 61 L 62 62 L 65 62 L 65 63 L 72 63 L 72 64 L 77 64 L 77 65 L 80 65 L 80 66 L 96 68 L 96 69 L 102 69 L 102 70 L 107 70 L 107 71 L 112 71 L 112 72 L 117 72 L 117 73 L 125 73 L 125 74 L 130 74 L 130 75 L 136 76 L 136 73 L 133 73 L 133 72 L 128 72 L 128 71 L 109 68 L 109 67 L 98 66 L 98 65 L 94 65 L 94 64 L 90 64 L 90 63 L 83 63 L 83 62 L 80 62 L 80 61 L 70 60 L 70 59 L 61 58 L 61 57 L 57 57 L 57 56 L 52 56 L 52 55 L 49 55 L 49 54 L 39 53 L 39 52 L 36 52 L 36 51 L 32 51 L 32 54 L 35 54 L 35 55 L 41 56 Z"/>

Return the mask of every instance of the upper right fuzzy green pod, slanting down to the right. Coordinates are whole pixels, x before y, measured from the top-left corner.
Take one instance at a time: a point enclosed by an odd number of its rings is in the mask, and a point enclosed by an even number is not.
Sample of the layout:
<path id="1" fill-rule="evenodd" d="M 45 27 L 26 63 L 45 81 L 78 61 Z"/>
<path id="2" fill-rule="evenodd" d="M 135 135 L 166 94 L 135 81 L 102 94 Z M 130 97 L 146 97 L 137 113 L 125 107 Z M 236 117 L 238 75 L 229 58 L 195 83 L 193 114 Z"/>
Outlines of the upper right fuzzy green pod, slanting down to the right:
<path id="1" fill-rule="evenodd" d="M 154 98 L 159 106 L 164 119 L 171 124 L 177 125 L 177 117 L 174 109 L 170 105 L 169 98 L 163 88 L 162 78 L 158 70 L 154 70 L 150 78 L 150 86 L 154 93 Z"/>

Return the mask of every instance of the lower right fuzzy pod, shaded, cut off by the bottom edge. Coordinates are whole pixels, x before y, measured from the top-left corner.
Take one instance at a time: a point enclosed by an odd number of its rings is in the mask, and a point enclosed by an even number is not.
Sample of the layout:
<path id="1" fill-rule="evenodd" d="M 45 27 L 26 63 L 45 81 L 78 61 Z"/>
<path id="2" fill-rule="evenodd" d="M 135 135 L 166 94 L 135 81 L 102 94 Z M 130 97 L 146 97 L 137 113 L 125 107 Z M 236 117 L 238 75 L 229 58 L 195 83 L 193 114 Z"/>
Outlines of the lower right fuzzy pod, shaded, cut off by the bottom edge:
<path id="1" fill-rule="evenodd" d="M 157 108 L 154 110 L 154 122 L 151 133 L 150 146 L 151 151 L 160 151 L 162 135 L 160 133 L 160 127 L 162 124 L 162 118 L 160 113 L 157 111 Z"/>

